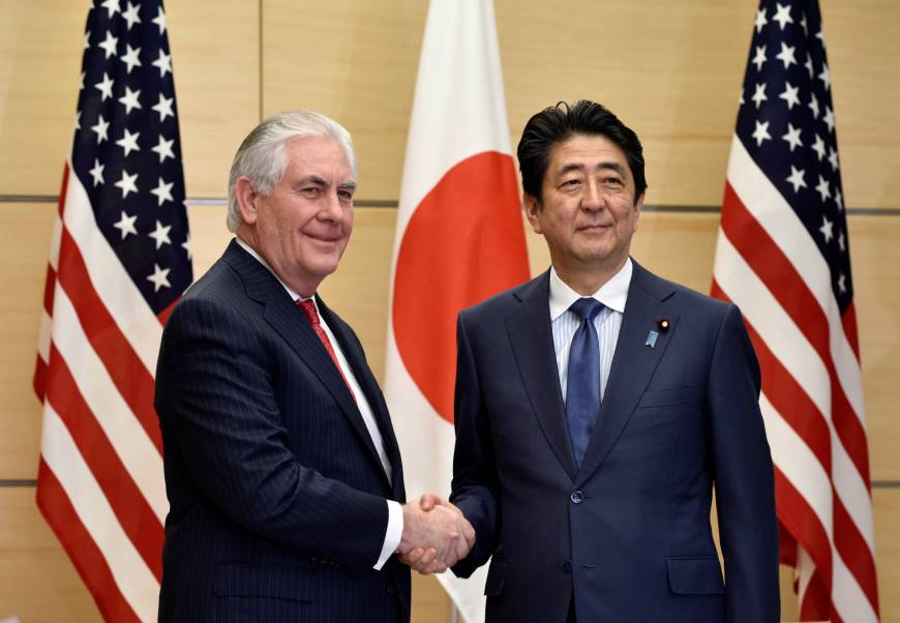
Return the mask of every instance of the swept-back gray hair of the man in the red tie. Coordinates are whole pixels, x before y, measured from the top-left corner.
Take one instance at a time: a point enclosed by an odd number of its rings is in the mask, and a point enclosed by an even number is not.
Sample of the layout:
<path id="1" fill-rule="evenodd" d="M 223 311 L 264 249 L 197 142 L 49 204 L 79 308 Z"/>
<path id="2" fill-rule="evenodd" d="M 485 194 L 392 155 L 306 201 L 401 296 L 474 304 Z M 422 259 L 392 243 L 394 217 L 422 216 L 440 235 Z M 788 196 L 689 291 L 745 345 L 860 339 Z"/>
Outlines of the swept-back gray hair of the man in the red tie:
<path id="1" fill-rule="evenodd" d="M 250 178 L 253 188 L 263 196 L 281 181 L 287 168 L 285 144 L 291 139 L 303 137 L 331 138 L 336 140 L 356 177 L 356 153 L 350 133 L 333 119 L 310 110 L 289 111 L 273 115 L 256 126 L 234 155 L 228 175 L 228 231 L 237 231 L 241 224 L 234 187 L 239 177 Z"/>

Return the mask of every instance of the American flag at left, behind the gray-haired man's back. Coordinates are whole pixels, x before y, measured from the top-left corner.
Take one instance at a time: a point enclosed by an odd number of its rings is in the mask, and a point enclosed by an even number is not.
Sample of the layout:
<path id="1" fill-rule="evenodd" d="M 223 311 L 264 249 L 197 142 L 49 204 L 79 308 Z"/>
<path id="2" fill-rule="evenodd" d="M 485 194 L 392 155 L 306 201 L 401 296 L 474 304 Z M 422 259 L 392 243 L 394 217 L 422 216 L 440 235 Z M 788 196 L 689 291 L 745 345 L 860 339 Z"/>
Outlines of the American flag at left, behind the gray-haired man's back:
<path id="1" fill-rule="evenodd" d="M 89 9 L 34 376 L 37 502 L 108 621 L 155 621 L 168 512 L 153 410 L 162 325 L 190 284 L 162 2 Z"/>

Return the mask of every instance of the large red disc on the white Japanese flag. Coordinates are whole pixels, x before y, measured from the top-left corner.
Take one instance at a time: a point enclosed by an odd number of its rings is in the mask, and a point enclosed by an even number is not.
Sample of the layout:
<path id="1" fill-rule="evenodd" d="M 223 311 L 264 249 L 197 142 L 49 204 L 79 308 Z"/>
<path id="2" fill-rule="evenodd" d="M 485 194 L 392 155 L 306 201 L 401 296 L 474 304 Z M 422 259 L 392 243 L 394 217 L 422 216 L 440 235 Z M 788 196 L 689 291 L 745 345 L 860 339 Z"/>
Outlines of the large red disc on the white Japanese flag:
<path id="1" fill-rule="evenodd" d="M 483 152 L 461 161 L 422 199 L 400 243 L 393 309 L 397 349 L 448 422 L 457 314 L 529 276 L 516 184 L 512 156 Z"/>

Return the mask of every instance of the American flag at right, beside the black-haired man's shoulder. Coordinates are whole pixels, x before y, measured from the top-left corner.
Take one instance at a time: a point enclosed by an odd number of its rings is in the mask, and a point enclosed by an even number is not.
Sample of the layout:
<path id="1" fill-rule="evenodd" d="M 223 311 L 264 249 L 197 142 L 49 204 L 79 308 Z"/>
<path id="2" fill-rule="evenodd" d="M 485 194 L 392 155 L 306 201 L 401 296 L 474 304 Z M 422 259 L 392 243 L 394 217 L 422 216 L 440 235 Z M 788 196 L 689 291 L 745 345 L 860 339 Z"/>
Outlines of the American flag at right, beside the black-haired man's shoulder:
<path id="1" fill-rule="evenodd" d="M 728 164 L 713 294 L 762 367 L 781 559 L 802 620 L 878 620 L 850 245 L 815 0 L 762 0 Z"/>

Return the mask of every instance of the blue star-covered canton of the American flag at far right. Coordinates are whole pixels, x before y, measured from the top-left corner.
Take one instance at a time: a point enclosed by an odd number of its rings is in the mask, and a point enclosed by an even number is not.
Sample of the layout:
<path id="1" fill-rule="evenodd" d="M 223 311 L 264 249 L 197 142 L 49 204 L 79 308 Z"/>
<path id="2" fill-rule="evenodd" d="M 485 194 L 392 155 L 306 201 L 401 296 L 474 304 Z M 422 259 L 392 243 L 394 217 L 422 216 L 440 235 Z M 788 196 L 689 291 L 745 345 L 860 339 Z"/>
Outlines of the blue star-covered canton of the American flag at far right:
<path id="1" fill-rule="evenodd" d="M 760 3 L 737 134 L 818 245 L 843 314 L 853 300 L 850 246 L 816 0 Z"/>

